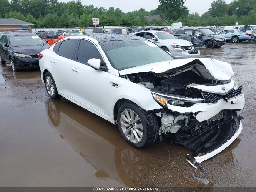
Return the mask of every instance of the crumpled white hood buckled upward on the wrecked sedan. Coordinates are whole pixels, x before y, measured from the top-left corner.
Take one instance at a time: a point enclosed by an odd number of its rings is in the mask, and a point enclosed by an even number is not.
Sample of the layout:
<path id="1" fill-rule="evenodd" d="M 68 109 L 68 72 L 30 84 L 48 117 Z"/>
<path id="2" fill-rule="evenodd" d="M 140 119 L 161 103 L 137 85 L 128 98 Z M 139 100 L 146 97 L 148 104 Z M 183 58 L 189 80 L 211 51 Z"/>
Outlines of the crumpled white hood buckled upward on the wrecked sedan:
<path id="1" fill-rule="evenodd" d="M 210 58 L 174 59 L 166 62 L 151 63 L 119 71 L 120 75 L 140 72 L 153 72 L 158 77 L 171 77 L 193 70 L 199 76 L 211 80 L 229 80 L 234 72 L 229 63 Z"/>

